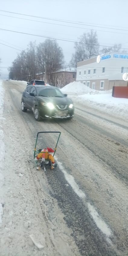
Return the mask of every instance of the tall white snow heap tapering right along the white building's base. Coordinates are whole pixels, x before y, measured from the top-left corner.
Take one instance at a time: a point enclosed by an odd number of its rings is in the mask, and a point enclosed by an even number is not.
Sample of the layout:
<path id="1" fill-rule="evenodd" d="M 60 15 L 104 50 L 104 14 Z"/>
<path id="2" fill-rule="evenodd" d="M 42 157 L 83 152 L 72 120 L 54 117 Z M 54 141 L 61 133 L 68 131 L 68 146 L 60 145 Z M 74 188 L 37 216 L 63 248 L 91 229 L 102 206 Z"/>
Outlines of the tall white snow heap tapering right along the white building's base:
<path id="1" fill-rule="evenodd" d="M 82 84 L 81 82 L 72 82 L 68 85 L 65 85 L 62 89 L 62 92 L 69 92 L 72 94 L 111 94 L 112 90 L 109 91 L 97 91 L 89 88 L 88 86 Z"/>

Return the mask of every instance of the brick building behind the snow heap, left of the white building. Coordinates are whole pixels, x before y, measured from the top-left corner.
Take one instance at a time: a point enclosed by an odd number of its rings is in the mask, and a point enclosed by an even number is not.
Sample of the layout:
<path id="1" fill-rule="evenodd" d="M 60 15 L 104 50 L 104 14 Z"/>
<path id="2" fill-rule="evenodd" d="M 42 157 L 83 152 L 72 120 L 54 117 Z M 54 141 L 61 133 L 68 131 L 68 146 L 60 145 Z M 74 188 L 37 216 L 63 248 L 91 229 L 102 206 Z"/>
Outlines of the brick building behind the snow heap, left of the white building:
<path id="1" fill-rule="evenodd" d="M 53 73 L 55 85 L 62 88 L 63 86 L 76 81 L 76 68 L 60 69 Z"/>

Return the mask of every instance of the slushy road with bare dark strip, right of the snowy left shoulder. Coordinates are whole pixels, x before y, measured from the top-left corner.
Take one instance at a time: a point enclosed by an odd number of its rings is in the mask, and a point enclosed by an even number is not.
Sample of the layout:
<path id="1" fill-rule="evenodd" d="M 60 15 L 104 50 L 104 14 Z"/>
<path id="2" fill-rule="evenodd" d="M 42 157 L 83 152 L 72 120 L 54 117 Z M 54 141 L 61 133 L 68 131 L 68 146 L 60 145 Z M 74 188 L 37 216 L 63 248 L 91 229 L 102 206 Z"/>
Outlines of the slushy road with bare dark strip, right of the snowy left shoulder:
<path id="1" fill-rule="evenodd" d="M 71 230 L 69 238 L 75 241 L 80 255 L 128 255 L 127 122 L 77 104 L 75 117 L 71 121 L 36 122 L 32 112 L 21 112 L 23 84 L 5 81 L 3 85 L 4 117 L 14 119 L 20 137 L 21 134 L 24 136 L 23 160 L 27 160 L 27 150 L 32 160 L 38 131 L 62 132 L 55 171 L 37 172 L 30 161 L 33 177 L 40 180 L 40 186 L 53 200 L 52 203 L 47 198 L 44 200 L 49 207 L 48 220 L 51 221 L 53 209 L 58 207 L 58 226 L 61 216 Z M 55 143 L 52 136 L 46 140 L 49 145 Z M 76 249 L 74 255 L 79 254 Z M 60 255 L 71 254 L 61 252 Z"/>

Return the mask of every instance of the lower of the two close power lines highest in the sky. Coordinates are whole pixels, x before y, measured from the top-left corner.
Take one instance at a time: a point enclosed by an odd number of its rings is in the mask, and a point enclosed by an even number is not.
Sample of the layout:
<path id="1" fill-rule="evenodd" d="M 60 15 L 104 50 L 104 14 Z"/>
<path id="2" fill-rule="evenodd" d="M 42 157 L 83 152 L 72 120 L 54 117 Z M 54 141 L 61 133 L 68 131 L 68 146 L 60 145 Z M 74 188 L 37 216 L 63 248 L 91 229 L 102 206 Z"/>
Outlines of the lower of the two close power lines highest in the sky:
<path id="1" fill-rule="evenodd" d="M 50 23 L 50 22 L 45 22 L 45 21 L 36 21 L 36 20 L 30 20 L 30 19 L 25 19 L 25 18 L 19 18 L 19 17 L 14 17 L 14 16 L 9 16 L 9 15 L 4 15 L 4 14 L 0 14 L 1 16 L 6 16 L 6 17 L 11 17 L 11 18 L 16 18 L 16 19 L 21 19 L 21 20 L 26 20 L 26 21 L 35 21 L 35 22 L 40 22 L 40 23 L 45 23 L 45 24 L 52 24 L 52 25 L 58 25 L 58 26 L 64 26 L 64 27 L 74 27 L 74 28 L 80 28 L 80 29 L 88 29 L 90 30 L 90 28 L 87 27 L 75 27 L 75 26 L 69 26 L 69 25 L 64 25 L 64 24 L 56 24 L 56 23 Z M 127 35 L 126 33 L 121 33 L 121 32 L 115 32 L 115 31 L 106 31 L 106 30 L 98 30 L 95 29 L 96 31 L 101 31 L 101 32 L 108 32 L 108 33 L 116 33 L 116 34 L 123 34 L 123 35 Z M 128 31 L 128 30 L 126 30 Z"/>

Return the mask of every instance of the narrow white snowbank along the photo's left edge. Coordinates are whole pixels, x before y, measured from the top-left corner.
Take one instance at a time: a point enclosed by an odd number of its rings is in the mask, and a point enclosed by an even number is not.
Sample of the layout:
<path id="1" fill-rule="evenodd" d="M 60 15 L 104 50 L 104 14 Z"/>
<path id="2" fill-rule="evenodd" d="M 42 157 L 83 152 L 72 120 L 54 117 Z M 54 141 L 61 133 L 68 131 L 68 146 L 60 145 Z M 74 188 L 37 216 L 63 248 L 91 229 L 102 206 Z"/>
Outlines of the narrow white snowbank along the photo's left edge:
<path id="1" fill-rule="evenodd" d="M 0 80 L 0 223 L 2 222 L 2 186 L 4 185 L 4 176 L 3 176 L 3 163 L 5 156 L 5 145 L 4 145 L 4 133 L 2 130 L 2 121 L 3 121 L 3 104 L 4 104 L 4 89 L 2 88 L 2 81 Z"/>

